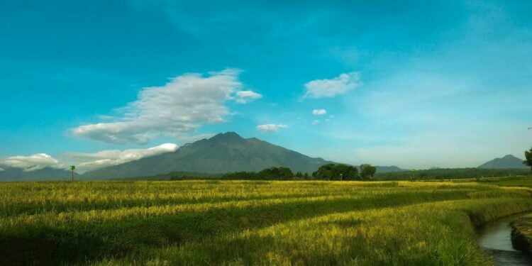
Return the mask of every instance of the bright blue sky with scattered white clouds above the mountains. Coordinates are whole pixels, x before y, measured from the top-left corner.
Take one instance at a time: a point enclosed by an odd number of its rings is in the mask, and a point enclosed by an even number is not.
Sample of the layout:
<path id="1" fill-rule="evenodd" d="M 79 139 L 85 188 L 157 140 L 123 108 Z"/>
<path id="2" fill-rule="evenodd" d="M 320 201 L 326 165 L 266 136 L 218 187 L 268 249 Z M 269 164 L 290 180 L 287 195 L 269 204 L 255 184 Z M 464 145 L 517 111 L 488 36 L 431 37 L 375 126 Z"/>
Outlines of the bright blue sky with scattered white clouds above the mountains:
<path id="1" fill-rule="evenodd" d="M 225 131 L 353 164 L 523 157 L 530 13 L 530 1 L 8 1 L 0 157 L 142 157 Z"/>

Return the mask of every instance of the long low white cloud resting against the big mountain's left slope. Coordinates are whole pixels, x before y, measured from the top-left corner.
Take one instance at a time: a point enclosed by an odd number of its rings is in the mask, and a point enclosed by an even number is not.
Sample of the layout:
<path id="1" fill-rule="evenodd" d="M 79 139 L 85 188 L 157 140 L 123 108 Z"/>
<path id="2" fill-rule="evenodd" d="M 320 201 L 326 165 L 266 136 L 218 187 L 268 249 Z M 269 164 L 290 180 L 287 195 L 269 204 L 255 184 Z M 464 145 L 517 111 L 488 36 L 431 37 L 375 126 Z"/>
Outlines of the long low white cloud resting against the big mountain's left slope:
<path id="1" fill-rule="evenodd" d="M 98 153 L 66 153 L 63 157 L 65 157 L 65 160 L 76 164 L 76 169 L 81 172 L 86 172 L 139 160 L 143 157 L 171 153 L 177 150 L 177 148 L 178 146 L 174 143 L 165 143 L 147 149 L 102 150 Z"/>

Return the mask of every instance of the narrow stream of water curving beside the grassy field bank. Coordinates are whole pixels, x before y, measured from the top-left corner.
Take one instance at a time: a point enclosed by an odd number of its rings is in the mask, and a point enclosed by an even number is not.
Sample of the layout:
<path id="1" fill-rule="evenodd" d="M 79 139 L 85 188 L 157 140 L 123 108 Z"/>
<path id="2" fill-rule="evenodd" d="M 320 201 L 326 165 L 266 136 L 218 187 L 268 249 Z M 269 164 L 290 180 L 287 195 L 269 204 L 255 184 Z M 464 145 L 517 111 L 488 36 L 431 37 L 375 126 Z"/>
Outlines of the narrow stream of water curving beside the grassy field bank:
<path id="1" fill-rule="evenodd" d="M 531 266 L 532 259 L 511 245 L 511 226 L 519 216 L 501 218 L 480 229 L 480 246 L 492 255 L 496 266 Z"/>

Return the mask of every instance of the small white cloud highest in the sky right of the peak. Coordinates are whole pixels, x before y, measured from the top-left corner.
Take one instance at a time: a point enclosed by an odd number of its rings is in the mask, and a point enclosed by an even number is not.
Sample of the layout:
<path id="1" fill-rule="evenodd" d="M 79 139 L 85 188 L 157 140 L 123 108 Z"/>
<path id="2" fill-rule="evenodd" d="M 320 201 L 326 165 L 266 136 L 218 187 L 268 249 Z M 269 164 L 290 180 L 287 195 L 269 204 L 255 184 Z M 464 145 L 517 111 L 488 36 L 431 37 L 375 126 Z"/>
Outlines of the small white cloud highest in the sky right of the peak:
<path id="1" fill-rule="evenodd" d="M 345 94 L 352 89 L 360 87 L 360 74 L 358 72 L 349 72 L 340 74 L 333 79 L 314 79 L 305 84 L 304 98 L 322 98 L 334 97 L 339 94 Z"/>

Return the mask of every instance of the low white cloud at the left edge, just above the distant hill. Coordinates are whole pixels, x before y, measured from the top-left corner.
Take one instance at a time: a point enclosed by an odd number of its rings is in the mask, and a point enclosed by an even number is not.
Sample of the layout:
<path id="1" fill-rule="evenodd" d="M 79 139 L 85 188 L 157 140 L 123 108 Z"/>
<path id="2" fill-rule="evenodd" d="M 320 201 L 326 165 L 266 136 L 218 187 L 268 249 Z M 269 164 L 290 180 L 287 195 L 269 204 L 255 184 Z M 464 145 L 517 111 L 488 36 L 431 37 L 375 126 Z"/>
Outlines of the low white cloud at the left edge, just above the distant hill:
<path id="1" fill-rule="evenodd" d="M 30 156 L 13 156 L 0 160 L 1 165 L 9 167 L 22 168 L 26 172 L 40 170 L 45 167 L 62 168 L 64 165 L 60 164 L 52 156 L 46 153 L 37 153 Z"/>

